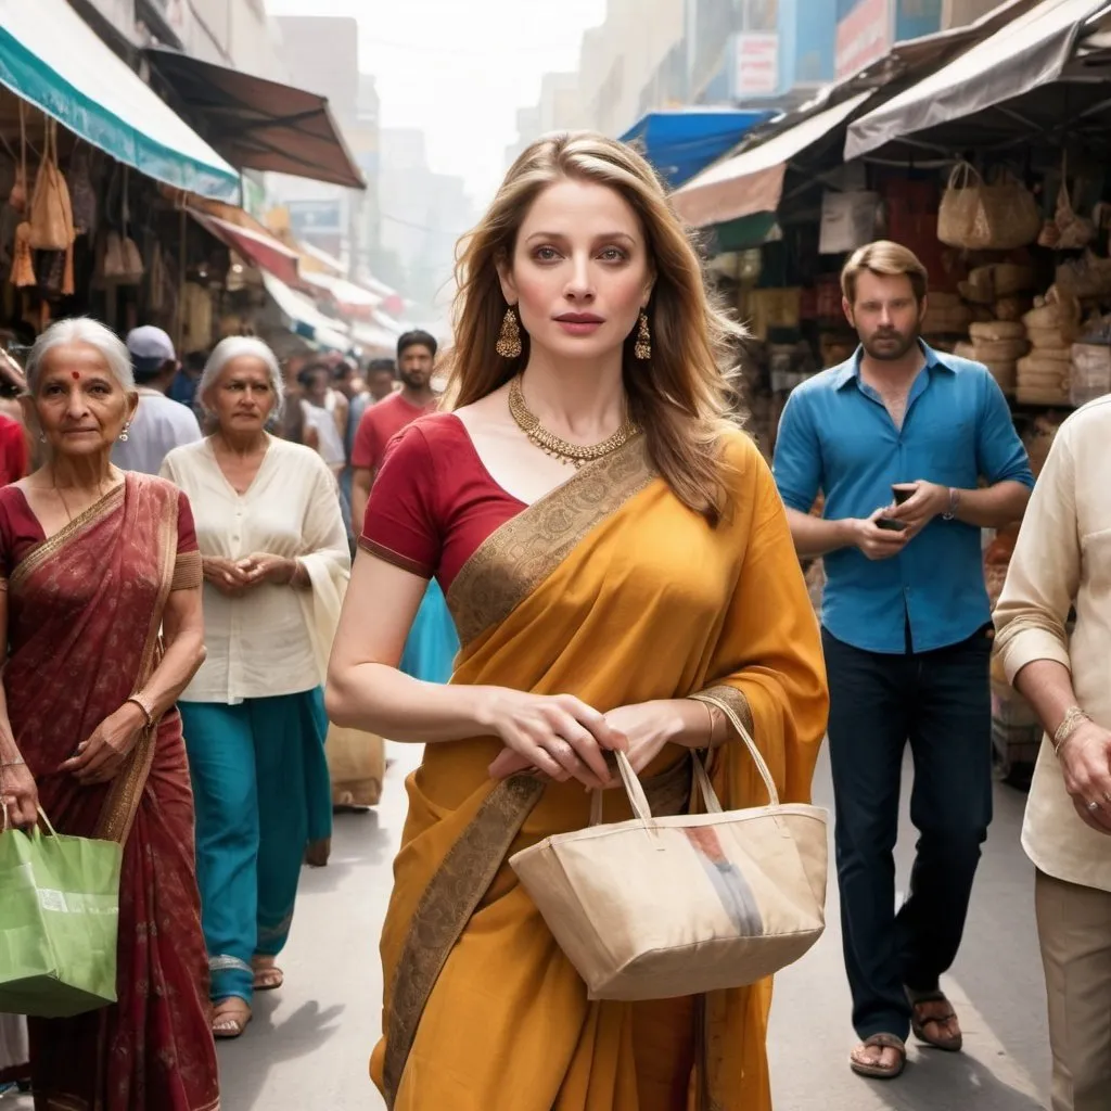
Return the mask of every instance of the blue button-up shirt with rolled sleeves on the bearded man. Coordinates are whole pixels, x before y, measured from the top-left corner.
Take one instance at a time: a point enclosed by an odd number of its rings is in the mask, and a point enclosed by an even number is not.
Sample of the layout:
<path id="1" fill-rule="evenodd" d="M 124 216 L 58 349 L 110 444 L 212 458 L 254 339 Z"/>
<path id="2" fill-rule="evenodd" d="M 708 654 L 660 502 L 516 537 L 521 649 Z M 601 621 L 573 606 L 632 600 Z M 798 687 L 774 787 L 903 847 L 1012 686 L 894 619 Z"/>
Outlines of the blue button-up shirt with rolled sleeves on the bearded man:
<path id="1" fill-rule="evenodd" d="M 987 368 L 924 343 L 900 429 L 860 377 L 861 350 L 803 382 L 788 399 L 775 441 L 783 501 L 807 513 L 821 490 L 827 520 L 867 518 L 892 501 L 891 487 L 924 479 L 961 490 L 1010 480 L 1033 487 L 1007 399 Z M 857 548 L 824 557 L 822 624 L 871 652 L 955 644 L 991 618 L 980 530 L 932 520 L 895 557 L 872 561 Z"/>

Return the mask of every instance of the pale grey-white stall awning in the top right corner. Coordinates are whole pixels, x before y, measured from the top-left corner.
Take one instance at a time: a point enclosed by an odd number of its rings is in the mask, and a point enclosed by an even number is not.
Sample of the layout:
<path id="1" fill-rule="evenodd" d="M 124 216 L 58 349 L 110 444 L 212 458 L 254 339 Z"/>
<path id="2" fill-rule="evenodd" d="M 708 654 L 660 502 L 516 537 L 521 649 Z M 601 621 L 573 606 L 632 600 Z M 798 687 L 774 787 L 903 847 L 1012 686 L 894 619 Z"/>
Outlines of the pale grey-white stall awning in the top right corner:
<path id="1" fill-rule="evenodd" d="M 948 66 L 849 126 L 844 157 L 972 116 L 1055 81 L 1108 0 L 1042 0 Z"/>

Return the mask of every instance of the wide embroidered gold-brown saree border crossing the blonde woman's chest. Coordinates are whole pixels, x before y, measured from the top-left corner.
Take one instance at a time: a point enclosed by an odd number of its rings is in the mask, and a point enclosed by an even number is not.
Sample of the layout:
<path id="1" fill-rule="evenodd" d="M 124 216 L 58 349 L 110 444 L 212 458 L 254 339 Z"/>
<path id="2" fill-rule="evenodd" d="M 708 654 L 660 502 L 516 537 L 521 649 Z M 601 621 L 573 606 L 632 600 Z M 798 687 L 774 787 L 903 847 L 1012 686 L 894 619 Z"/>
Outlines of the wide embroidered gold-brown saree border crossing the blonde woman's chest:
<path id="1" fill-rule="evenodd" d="M 643 436 L 533 502 L 479 546 L 448 591 L 466 648 L 504 621 L 583 537 L 655 478 Z"/>

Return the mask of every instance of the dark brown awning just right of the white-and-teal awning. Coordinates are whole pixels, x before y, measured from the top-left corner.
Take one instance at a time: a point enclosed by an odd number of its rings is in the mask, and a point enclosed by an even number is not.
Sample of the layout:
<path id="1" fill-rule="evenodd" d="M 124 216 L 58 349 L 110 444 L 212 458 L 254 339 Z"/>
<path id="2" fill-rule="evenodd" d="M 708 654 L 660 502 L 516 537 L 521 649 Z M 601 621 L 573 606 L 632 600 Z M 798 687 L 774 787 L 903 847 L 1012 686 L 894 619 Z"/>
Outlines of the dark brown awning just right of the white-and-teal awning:
<path id="1" fill-rule="evenodd" d="M 327 98 L 177 50 L 147 53 L 188 110 L 204 119 L 212 144 L 236 166 L 367 188 Z"/>

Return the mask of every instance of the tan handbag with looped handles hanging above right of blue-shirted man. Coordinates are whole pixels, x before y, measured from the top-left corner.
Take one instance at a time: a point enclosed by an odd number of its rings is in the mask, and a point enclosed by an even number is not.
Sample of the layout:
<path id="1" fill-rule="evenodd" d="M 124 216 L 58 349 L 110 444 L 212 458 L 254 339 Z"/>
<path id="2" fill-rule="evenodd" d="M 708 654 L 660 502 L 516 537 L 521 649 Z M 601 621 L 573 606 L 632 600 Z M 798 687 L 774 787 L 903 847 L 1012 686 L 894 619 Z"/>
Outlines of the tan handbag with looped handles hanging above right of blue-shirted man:
<path id="1" fill-rule="evenodd" d="M 938 211 L 938 239 L 969 251 L 1011 251 L 1033 243 L 1042 229 L 1038 202 L 1002 170 L 988 183 L 968 162 L 958 163 Z"/>

